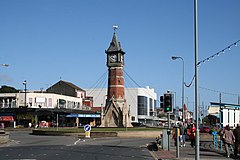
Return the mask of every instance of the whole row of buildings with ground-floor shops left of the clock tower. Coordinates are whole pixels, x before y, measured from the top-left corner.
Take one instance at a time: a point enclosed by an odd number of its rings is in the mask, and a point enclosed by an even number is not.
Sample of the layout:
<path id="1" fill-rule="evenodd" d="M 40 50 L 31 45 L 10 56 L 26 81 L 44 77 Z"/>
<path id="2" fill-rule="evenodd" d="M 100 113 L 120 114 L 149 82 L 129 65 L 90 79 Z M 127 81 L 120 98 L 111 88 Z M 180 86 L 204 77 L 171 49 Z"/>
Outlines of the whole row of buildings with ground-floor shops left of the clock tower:
<path id="1" fill-rule="evenodd" d="M 0 122 L 24 127 L 39 126 L 42 121 L 49 126 L 100 125 L 100 113 L 91 111 L 91 104 L 92 98 L 86 97 L 86 91 L 61 80 L 46 91 L 1 93 Z"/>

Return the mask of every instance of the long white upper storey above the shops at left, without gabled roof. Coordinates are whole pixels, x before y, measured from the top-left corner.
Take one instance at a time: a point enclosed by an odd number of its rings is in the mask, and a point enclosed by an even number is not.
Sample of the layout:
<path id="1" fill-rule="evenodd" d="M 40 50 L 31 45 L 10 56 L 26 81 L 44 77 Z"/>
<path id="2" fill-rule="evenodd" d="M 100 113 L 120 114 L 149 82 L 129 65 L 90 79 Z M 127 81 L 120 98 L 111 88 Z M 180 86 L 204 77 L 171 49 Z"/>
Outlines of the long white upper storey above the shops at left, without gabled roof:
<path id="1" fill-rule="evenodd" d="M 81 97 L 46 92 L 1 93 L 0 100 L 0 108 L 19 108 L 25 106 L 26 103 L 28 108 L 83 109 L 83 99 Z"/>

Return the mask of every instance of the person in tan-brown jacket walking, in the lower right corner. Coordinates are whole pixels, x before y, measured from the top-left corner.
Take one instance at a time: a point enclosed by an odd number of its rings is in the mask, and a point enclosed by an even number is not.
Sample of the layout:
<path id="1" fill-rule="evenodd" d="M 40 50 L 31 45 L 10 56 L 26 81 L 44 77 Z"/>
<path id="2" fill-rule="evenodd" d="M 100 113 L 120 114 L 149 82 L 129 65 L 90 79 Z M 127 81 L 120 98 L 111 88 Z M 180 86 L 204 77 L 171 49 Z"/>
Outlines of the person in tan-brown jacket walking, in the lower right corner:
<path id="1" fill-rule="evenodd" d="M 230 150 L 233 153 L 232 145 L 234 141 L 235 141 L 235 136 L 232 130 L 230 129 L 229 125 L 226 125 L 225 129 L 223 130 L 223 142 L 224 142 L 225 151 L 228 158 L 230 157 Z"/>

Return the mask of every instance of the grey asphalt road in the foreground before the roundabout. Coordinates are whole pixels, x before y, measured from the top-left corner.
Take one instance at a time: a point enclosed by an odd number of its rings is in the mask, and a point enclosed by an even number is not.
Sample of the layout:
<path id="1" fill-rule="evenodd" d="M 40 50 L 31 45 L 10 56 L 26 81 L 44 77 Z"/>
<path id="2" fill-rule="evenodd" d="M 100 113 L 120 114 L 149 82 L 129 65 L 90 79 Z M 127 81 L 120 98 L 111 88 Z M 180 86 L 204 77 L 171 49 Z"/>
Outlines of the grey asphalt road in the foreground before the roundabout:
<path id="1" fill-rule="evenodd" d="M 9 144 L 0 146 L 0 160 L 140 160 L 153 159 L 146 144 L 153 139 L 35 136 L 11 131 Z"/>

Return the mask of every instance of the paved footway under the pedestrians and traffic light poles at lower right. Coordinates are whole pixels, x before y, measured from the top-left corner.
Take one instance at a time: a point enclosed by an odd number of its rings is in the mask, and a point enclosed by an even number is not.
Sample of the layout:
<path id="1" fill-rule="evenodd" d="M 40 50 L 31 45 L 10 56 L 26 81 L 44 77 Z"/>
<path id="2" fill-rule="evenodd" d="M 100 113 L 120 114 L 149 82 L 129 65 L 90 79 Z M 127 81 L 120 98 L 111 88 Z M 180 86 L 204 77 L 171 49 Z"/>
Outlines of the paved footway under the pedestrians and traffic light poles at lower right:
<path id="1" fill-rule="evenodd" d="M 212 159 L 218 159 L 218 160 L 224 160 L 224 159 L 240 159 L 234 158 L 233 155 L 231 155 L 230 158 L 226 157 L 224 148 L 220 150 L 220 148 L 215 149 L 213 146 L 213 141 L 200 141 L 199 146 L 199 158 L 201 160 L 212 160 Z M 185 147 L 179 147 L 179 158 L 176 157 L 176 147 L 171 145 L 170 150 L 163 150 L 158 149 L 158 151 L 150 151 L 152 156 L 155 160 L 192 160 L 195 159 L 195 148 L 191 147 L 190 142 L 186 142 Z"/>

